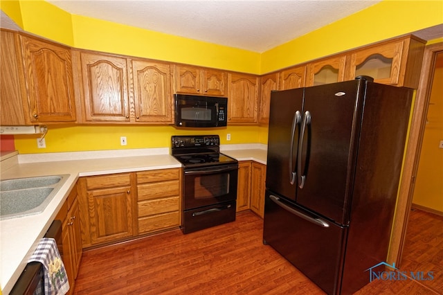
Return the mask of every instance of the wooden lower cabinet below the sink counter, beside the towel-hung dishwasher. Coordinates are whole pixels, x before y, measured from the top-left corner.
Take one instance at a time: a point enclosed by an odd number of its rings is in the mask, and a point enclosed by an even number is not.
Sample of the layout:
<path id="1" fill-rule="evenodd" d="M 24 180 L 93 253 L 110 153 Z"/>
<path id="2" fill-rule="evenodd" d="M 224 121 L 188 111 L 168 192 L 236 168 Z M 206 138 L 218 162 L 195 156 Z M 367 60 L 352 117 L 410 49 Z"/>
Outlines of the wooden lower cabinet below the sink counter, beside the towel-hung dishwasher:
<path id="1" fill-rule="evenodd" d="M 79 213 L 78 193 L 75 186 L 55 217 L 56 220 L 62 221 L 62 253 L 60 254 L 68 275 L 70 286 L 68 294 L 73 294 L 75 278 L 80 269 L 83 253 Z"/>

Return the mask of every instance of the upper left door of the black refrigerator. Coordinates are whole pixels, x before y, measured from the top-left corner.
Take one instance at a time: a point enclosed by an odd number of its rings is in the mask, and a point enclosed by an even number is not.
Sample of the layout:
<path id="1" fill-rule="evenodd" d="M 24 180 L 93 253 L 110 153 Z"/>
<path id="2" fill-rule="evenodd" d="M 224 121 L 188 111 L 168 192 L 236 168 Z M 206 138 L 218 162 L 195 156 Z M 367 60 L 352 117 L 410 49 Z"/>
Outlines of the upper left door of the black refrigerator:
<path id="1" fill-rule="evenodd" d="M 302 107 L 302 88 L 271 93 L 266 188 L 293 200 Z"/>

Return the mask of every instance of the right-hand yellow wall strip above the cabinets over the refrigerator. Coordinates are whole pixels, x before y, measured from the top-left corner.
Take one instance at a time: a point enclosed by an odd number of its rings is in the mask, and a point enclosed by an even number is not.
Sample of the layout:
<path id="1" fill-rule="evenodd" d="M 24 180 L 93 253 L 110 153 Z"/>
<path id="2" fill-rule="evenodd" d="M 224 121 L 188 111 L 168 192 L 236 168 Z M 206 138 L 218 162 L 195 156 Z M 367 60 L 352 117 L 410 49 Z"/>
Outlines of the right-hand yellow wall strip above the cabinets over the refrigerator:
<path id="1" fill-rule="evenodd" d="M 262 53 L 261 73 L 442 23 L 443 1 L 381 1 Z"/>

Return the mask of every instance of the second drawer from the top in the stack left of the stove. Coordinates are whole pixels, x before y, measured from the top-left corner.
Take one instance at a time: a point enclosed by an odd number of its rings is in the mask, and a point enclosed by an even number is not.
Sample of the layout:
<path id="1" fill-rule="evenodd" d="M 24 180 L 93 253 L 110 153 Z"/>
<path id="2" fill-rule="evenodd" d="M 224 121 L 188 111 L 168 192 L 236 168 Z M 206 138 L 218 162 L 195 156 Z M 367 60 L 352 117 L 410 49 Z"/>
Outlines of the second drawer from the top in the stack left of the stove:
<path id="1" fill-rule="evenodd" d="M 137 186 L 137 193 L 138 201 L 178 196 L 180 194 L 180 181 L 177 179 L 154 182 L 152 184 L 139 184 Z"/>

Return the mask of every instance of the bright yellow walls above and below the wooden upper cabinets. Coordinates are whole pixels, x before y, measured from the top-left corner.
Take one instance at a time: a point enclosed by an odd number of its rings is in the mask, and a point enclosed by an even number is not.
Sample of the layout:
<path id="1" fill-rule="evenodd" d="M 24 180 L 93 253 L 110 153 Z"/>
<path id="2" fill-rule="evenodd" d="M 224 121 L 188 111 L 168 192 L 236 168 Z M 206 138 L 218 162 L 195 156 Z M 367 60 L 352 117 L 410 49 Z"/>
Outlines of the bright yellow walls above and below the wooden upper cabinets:
<path id="1" fill-rule="evenodd" d="M 443 1 L 385 0 L 260 54 L 90 17 L 70 15 L 46 1 L 0 0 L 0 8 L 27 32 L 76 48 L 255 74 L 435 26 L 443 20 Z M 268 129 L 227 127 L 190 132 L 170 126 L 49 126 L 46 149 L 37 150 L 37 136 L 17 135 L 15 145 L 21 154 L 169 147 L 172 134 L 206 132 L 219 134 L 221 143 L 267 143 Z M 226 141 L 226 133 L 231 134 L 232 140 L 229 142 Z M 126 147 L 119 145 L 120 136 L 127 136 Z"/>

